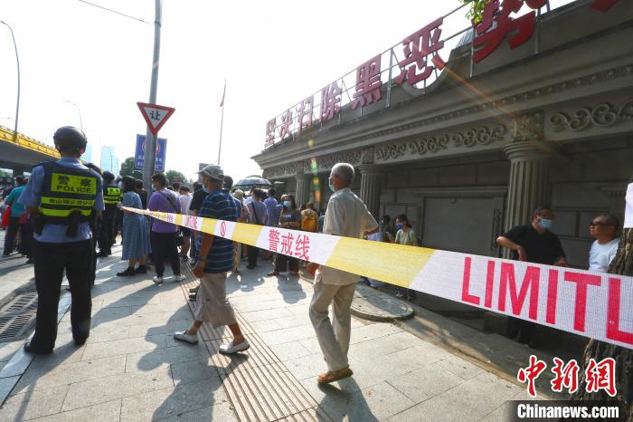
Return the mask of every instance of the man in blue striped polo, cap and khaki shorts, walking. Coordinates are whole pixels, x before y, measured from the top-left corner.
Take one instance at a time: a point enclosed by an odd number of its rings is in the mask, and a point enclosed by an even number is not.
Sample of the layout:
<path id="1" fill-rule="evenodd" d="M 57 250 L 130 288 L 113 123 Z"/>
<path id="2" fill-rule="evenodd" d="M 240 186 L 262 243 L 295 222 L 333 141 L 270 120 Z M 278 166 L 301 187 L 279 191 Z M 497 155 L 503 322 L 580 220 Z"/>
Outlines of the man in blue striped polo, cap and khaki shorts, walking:
<path id="1" fill-rule="evenodd" d="M 237 221 L 238 211 L 228 189 L 222 189 L 224 172 L 220 166 L 209 165 L 199 172 L 203 185 L 209 190 L 198 216 L 224 221 Z M 204 233 L 200 246 L 200 260 L 194 267 L 194 275 L 200 279 L 200 289 L 195 302 L 194 323 L 186 331 L 177 331 L 175 340 L 191 344 L 198 342 L 198 330 L 203 322 L 213 328 L 228 325 L 233 340 L 220 346 L 224 354 L 249 349 L 249 342 L 241 333 L 231 303 L 226 300 L 226 278 L 233 268 L 233 242 L 223 237 Z"/>

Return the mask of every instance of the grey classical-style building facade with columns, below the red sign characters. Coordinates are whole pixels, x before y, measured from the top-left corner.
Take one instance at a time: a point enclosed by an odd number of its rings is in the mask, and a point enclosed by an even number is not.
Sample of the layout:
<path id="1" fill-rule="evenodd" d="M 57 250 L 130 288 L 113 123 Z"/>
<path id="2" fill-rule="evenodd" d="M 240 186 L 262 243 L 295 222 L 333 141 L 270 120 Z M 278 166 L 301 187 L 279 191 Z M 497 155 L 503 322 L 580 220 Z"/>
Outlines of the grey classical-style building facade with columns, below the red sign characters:
<path id="1" fill-rule="evenodd" d="M 332 166 L 353 164 L 374 216 L 405 213 L 424 246 L 469 254 L 501 256 L 496 236 L 550 204 L 570 264 L 587 267 L 589 223 L 623 215 L 633 174 L 633 7 L 593 1 L 543 14 L 529 43 L 477 64 L 467 37 L 425 89 L 390 82 L 389 107 L 344 106 L 253 159 L 322 209 Z"/>

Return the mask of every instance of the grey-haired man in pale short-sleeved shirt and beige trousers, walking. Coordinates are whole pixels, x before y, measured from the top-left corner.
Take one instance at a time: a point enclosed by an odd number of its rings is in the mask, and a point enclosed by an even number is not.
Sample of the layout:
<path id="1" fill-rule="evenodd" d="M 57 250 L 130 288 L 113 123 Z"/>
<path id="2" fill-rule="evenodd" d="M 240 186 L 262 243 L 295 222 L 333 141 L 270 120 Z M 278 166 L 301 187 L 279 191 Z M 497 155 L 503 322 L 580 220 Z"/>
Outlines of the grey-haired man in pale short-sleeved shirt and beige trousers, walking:
<path id="1" fill-rule="evenodd" d="M 329 184 L 335 193 L 327 203 L 323 233 L 363 238 L 378 232 L 378 223 L 367 206 L 349 188 L 353 180 L 354 167 L 350 164 L 338 163 L 332 168 Z M 347 362 L 347 350 L 352 324 L 350 308 L 359 276 L 316 264 L 308 265 L 307 272 L 316 272 L 310 320 L 328 369 L 317 381 L 319 384 L 328 384 L 352 375 Z M 332 302 L 334 324 L 328 314 Z"/>

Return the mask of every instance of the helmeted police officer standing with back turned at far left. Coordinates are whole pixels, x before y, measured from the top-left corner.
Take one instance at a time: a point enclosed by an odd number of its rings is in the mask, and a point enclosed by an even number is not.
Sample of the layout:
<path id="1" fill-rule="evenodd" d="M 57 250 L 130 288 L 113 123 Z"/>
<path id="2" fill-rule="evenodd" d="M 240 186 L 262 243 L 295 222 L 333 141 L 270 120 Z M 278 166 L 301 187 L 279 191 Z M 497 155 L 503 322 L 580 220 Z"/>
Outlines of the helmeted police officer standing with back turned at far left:
<path id="1" fill-rule="evenodd" d="M 90 273 L 92 234 L 90 216 L 104 209 L 103 182 L 99 174 L 80 163 L 86 135 L 64 126 L 53 135 L 58 161 L 33 168 L 19 202 L 31 214 L 35 238 L 35 287 L 37 319 L 33 340 L 24 350 L 51 353 L 57 338 L 57 307 L 64 271 L 71 285 L 71 324 L 75 344 L 90 335 Z"/>

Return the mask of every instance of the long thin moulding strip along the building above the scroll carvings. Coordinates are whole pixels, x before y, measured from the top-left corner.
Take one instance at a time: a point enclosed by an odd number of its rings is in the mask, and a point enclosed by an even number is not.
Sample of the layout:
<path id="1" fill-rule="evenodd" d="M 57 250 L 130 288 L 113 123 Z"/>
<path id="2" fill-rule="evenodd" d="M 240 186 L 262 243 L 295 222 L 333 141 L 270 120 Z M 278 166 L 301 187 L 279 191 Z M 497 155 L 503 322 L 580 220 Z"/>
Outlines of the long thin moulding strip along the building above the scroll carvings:
<path id="1" fill-rule="evenodd" d="M 402 132 L 403 130 L 420 128 L 423 126 L 427 126 L 433 123 L 439 123 L 445 120 L 451 120 L 459 117 L 468 116 L 470 114 L 475 114 L 478 112 L 486 111 L 486 110 L 495 110 L 499 106 L 508 106 L 510 104 L 518 104 L 524 101 L 532 101 L 537 98 L 546 97 L 549 95 L 559 94 L 563 91 L 570 91 L 580 89 L 584 86 L 591 85 L 593 83 L 598 82 L 606 82 L 613 79 L 622 78 L 625 76 L 633 75 L 633 64 L 626 64 L 623 66 L 619 66 L 617 68 L 609 69 L 606 71 L 591 73 L 590 75 L 581 76 L 580 78 L 574 78 L 563 82 L 556 82 L 551 85 L 547 85 L 541 88 L 536 88 L 531 91 L 525 91 L 520 94 L 510 95 L 496 101 L 487 101 L 479 103 L 475 106 L 467 107 L 464 109 L 454 110 L 448 113 L 439 114 L 437 116 L 430 117 L 428 119 L 422 119 L 418 121 L 413 121 L 411 123 L 402 124 L 400 126 L 396 126 L 389 129 L 383 130 L 375 130 L 372 133 L 368 133 L 366 135 L 362 135 L 359 137 L 345 139 L 345 142 L 357 142 L 365 139 L 374 139 L 380 138 L 385 135 L 390 135 L 393 133 Z M 268 151 L 272 151 L 273 149 L 269 149 L 267 151 L 263 151 L 262 154 L 266 154 Z"/>

